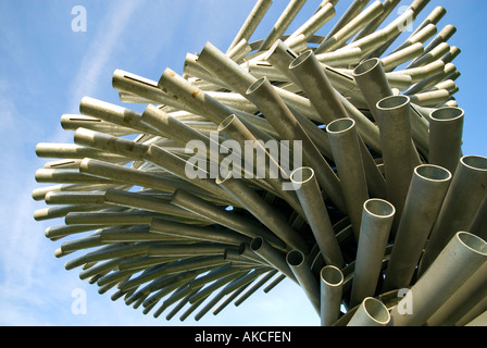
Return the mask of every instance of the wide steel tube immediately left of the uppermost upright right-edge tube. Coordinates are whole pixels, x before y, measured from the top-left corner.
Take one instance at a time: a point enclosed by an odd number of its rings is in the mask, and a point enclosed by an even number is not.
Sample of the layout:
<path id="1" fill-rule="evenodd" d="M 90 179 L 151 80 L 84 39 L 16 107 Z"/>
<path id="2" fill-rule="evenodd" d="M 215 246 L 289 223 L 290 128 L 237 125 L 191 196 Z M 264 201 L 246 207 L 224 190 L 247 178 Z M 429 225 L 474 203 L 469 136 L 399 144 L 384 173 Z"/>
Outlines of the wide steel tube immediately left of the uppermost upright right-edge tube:
<path id="1" fill-rule="evenodd" d="M 421 164 L 413 154 L 409 97 L 386 97 L 376 105 L 387 196 L 399 221 L 414 167 Z"/>

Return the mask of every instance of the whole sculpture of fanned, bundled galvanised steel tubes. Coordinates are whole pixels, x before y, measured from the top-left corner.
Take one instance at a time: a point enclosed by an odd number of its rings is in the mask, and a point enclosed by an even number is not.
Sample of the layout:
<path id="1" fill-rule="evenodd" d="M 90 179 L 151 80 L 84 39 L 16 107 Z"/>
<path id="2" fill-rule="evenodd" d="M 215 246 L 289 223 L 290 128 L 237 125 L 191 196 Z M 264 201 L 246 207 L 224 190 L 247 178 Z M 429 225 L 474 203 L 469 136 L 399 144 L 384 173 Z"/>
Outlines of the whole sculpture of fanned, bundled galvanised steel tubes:
<path id="1" fill-rule="evenodd" d="M 429 1 L 395 17 L 399 0 L 341 16 L 325 0 L 287 33 L 304 2 L 250 42 L 272 5 L 258 1 L 227 50 L 208 42 L 182 74 L 116 70 L 143 112 L 86 97 L 62 116 L 74 144 L 37 146 L 55 160 L 33 192 L 36 220 L 63 220 L 46 231 L 55 257 L 167 320 L 287 277 L 324 326 L 485 323 L 487 158 L 462 152 L 446 10 L 416 24 Z"/>

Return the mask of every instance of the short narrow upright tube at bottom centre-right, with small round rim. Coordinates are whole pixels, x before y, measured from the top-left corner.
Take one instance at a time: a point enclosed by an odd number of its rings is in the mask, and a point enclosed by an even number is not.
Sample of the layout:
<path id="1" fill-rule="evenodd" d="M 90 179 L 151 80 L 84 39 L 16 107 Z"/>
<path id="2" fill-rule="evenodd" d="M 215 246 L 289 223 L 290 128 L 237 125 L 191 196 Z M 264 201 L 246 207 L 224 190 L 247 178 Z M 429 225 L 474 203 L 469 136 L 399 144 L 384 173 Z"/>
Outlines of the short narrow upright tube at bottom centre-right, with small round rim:
<path id="1" fill-rule="evenodd" d="M 340 316 L 344 293 L 344 274 L 334 265 L 326 265 L 320 272 L 320 320 L 322 326 L 330 326 Z"/>

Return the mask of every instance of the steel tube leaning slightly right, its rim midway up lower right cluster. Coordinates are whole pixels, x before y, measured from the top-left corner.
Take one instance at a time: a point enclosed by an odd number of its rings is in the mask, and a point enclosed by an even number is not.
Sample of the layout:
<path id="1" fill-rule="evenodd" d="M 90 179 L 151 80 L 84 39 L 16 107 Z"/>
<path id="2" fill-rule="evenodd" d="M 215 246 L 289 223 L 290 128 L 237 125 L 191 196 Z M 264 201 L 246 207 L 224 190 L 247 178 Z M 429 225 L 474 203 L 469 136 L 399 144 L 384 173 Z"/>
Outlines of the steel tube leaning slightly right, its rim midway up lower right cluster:
<path id="1" fill-rule="evenodd" d="M 369 199 L 363 204 L 351 307 L 375 294 L 395 213 L 395 207 L 383 199 Z"/>

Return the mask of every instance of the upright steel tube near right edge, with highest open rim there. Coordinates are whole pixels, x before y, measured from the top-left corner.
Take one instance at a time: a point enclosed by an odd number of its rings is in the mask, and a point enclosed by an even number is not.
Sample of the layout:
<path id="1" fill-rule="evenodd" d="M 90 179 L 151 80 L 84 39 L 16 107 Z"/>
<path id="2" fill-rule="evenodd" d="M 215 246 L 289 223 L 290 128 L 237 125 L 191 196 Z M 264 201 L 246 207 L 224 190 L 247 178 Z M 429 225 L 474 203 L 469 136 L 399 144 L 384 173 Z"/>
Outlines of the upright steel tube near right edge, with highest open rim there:
<path id="1" fill-rule="evenodd" d="M 462 153 L 464 111 L 440 108 L 429 115 L 429 163 L 446 167 L 452 174 Z"/>

